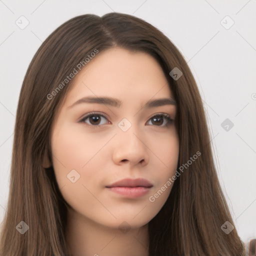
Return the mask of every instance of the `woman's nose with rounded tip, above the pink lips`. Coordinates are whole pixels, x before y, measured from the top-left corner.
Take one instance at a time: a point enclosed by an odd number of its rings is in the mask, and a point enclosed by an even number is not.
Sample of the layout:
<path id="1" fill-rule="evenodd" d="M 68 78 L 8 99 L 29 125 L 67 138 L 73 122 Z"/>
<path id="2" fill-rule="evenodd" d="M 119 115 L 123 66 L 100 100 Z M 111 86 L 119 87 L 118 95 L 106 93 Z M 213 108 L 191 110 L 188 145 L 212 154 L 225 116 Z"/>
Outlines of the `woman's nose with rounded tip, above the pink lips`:
<path id="1" fill-rule="evenodd" d="M 118 130 L 112 160 L 117 165 L 129 163 L 144 166 L 148 163 L 148 150 L 145 136 L 138 132 L 135 125 L 131 125 L 126 131 Z"/>

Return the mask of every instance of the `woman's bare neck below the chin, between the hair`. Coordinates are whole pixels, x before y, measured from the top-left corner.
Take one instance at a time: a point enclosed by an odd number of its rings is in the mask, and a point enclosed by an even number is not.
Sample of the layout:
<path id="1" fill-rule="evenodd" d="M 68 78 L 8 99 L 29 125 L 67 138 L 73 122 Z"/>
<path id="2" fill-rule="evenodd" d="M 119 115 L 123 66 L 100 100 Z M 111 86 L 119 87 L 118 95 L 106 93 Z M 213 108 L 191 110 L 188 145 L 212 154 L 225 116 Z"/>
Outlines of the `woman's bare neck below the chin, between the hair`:
<path id="1" fill-rule="evenodd" d="M 72 256 L 148 256 L 148 224 L 108 227 L 68 209 L 65 231 Z"/>

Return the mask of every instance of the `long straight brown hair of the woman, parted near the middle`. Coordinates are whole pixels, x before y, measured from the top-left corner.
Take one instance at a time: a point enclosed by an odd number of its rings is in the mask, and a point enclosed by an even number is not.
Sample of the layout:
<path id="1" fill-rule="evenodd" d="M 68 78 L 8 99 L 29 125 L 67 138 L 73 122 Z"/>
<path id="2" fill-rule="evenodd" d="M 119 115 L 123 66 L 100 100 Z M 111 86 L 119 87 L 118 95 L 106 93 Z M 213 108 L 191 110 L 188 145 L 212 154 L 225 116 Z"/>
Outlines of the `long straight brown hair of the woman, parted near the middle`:
<path id="1" fill-rule="evenodd" d="M 221 228 L 226 221 L 233 226 L 234 222 L 217 178 L 202 100 L 186 61 L 154 26 L 116 12 L 66 21 L 46 38 L 28 66 L 16 112 L 0 255 L 67 255 L 66 203 L 52 167 L 41 166 L 42 156 L 54 157 L 52 122 L 74 82 L 63 83 L 66 76 L 77 70 L 78 63 L 86 68 L 84 59 L 95 49 L 100 54 L 116 45 L 146 52 L 162 67 L 177 102 L 178 166 L 200 152 L 180 172 L 167 201 L 148 223 L 149 256 L 244 255 L 236 228 L 228 234 Z M 169 74 L 174 67 L 182 72 L 178 79 Z M 17 230 L 27 227 L 25 224 L 29 229 L 21 234 Z"/>

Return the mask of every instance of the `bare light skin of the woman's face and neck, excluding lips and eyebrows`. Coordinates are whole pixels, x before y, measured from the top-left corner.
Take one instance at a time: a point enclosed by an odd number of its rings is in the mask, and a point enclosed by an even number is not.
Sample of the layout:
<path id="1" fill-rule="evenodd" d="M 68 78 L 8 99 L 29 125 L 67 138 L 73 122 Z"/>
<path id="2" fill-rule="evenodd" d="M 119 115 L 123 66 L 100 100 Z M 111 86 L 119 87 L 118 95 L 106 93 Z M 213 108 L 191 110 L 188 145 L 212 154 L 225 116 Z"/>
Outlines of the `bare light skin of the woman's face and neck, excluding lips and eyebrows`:
<path id="1" fill-rule="evenodd" d="M 71 106 L 84 96 L 95 95 L 117 98 L 122 105 Z M 154 202 L 148 198 L 174 175 L 179 151 L 174 122 L 165 125 L 165 117 L 158 122 L 152 118 L 166 113 L 174 119 L 176 106 L 143 107 L 146 101 L 163 97 L 173 98 L 164 73 L 143 52 L 107 49 L 76 74 L 53 122 L 51 137 L 54 173 L 70 206 L 65 233 L 70 254 L 148 255 L 148 222 L 165 203 L 171 186 Z M 80 122 L 92 110 L 104 117 Z M 126 131 L 118 126 L 123 118 L 131 123 Z M 122 124 L 127 127 L 126 122 Z M 80 175 L 75 182 L 67 178 L 72 169 Z M 153 186 L 137 198 L 105 187 L 126 177 L 143 177 Z M 120 230 L 123 221 L 130 228 L 127 232 Z"/>

